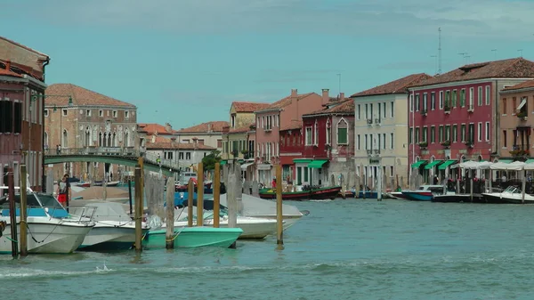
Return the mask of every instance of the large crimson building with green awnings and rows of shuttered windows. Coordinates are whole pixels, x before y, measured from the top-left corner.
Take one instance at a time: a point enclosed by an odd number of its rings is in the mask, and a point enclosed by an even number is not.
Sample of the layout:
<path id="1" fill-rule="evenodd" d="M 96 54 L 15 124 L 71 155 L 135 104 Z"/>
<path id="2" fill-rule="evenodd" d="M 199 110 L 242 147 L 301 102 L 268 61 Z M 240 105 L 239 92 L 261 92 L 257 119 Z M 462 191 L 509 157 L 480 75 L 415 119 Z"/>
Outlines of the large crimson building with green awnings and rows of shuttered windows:
<path id="1" fill-rule="evenodd" d="M 522 58 L 465 65 L 409 88 L 409 162 L 424 177 L 449 177 L 462 160 L 497 156 L 498 91 L 534 77 Z"/>

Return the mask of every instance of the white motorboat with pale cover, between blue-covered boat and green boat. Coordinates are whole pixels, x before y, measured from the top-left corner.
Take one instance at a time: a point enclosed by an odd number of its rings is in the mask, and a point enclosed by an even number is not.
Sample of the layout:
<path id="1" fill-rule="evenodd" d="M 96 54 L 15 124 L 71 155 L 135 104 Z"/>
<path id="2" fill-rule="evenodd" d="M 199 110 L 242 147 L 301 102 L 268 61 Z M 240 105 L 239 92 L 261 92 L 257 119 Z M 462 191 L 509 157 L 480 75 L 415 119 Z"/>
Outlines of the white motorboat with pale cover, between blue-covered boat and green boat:
<path id="1" fill-rule="evenodd" d="M 123 206 L 113 202 L 93 202 L 85 204 L 94 207 L 95 223 L 93 229 L 85 236 L 78 250 L 84 251 L 113 251 L 127 250 L 135 243 L 135 222 L 126 214 Z M 70 207 L 71 215 L 79 215 L 77 207 Z M 142 234 L 150 227 L 142 223 Z"/>

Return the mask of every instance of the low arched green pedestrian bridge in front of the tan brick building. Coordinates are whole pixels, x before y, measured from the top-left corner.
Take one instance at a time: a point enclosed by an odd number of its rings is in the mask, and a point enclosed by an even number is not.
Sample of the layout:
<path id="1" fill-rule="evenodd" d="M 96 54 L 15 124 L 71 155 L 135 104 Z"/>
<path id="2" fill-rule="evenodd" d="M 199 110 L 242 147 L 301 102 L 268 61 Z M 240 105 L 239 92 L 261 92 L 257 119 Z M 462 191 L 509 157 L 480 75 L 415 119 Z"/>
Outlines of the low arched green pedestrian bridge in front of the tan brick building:
<path id="1" fill-rule="evenodd" d="M 177 173 L 180 167 L 188 167 L 171 159 L 158 160 L 156 156 L 135 150 L 134 148 L 87 147 L 44 151 L 45 165 L 90 161 L 121 166 L 135 166 L 139 158 L 143 159 L 143 168 L 145 170 L 151 172 L 161 171 L 161 173 L 166 175 Z"/>

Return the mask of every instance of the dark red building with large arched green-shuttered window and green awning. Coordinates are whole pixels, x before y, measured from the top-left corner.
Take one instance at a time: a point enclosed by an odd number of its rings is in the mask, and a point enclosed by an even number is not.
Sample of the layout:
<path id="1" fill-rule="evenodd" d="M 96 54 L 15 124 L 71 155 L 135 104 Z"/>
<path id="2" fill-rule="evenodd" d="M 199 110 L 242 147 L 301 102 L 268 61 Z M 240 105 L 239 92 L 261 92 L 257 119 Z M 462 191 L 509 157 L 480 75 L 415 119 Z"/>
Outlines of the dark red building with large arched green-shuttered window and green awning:
<path id="1" fill-rule="evenodd" d="M 303 115 L 303 157 L 295 159 L 296 178 L 312 185 L 338 184 L 340 175 L 354 178 L 354 101 L 331 102 L 326 109 Z"/>

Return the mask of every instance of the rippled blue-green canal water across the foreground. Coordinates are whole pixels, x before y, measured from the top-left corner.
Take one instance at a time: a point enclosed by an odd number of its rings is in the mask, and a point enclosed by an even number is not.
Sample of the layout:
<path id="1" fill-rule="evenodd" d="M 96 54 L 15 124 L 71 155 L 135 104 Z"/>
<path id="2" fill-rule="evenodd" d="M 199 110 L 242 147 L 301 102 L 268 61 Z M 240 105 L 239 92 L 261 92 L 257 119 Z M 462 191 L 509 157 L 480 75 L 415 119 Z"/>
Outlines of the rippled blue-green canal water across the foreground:
<path id="1" fill-rule="evenodd" d="M 367 199 L 237 249 L 0 256 L 13 299 L 534 299 L 534 206 Z"/>

